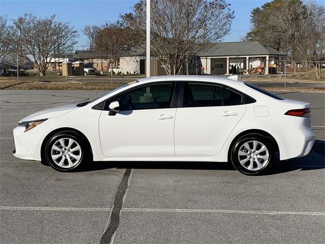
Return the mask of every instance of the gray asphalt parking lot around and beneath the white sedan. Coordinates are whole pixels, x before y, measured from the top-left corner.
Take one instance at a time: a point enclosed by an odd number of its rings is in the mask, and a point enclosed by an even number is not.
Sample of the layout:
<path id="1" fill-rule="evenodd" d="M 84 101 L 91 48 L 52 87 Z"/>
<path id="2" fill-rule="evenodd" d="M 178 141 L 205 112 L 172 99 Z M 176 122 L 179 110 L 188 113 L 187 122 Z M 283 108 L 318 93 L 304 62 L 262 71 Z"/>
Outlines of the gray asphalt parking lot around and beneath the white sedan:
<path id="1" fill-rule="evenodd" d="M 323 243 L 325 93 L 281 94 L 310 102 L 317 140 L 269 175 L 199 162 L 94 162 L 60 173 L 12 156 L 18 120 L 103 93 L 0 92 L 1 243 Z"/>

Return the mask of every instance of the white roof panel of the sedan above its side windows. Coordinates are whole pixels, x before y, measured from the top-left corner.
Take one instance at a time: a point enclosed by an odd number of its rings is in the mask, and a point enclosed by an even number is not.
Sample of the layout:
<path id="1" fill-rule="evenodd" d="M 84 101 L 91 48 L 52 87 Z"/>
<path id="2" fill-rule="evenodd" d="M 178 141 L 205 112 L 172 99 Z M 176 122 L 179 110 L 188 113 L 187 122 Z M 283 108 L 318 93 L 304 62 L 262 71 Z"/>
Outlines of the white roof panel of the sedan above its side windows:
<path id="1" fill-rule="evenodd" d="M 162 75 L 152 76 L 147 78 L 140 78 L 139 82 L 147 83 L 154 81 L 195 81 L 195 82 L 217 82 L 222 84 L 242 84 L 241 80 L 234 80 L 228 77 L 220 77 L 213 75 Z"/>

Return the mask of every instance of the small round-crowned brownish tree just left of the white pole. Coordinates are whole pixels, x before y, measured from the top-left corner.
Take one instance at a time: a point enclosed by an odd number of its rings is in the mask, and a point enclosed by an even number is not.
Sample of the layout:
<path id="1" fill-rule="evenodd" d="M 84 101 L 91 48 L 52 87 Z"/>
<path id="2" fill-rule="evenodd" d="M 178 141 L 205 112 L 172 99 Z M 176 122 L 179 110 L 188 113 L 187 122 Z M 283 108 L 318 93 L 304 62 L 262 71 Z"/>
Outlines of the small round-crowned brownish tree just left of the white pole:
<path id="1" fill-rule="evenodd" d="M 129 29 L 120 22 L 106 23 L 95 36 L 96 51 L 102 53 L 102 57 L 109 60 L 112 74 L 119 56 L 131 48 L 129 40 Z"/>

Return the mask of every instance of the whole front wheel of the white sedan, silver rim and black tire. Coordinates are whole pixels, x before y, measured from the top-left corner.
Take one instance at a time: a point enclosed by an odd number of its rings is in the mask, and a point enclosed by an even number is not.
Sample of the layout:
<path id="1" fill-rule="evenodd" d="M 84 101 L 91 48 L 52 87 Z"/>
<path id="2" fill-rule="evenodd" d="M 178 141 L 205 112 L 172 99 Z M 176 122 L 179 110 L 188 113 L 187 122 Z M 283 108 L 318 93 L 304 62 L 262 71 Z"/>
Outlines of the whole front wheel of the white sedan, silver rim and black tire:
<path id="1" fill-rule="evenodd" d="M 46 143 L 45 160 L 57 171 L 80 170 L 89 160 L 88 143 L 74 131 L 58 132 Z"/>

